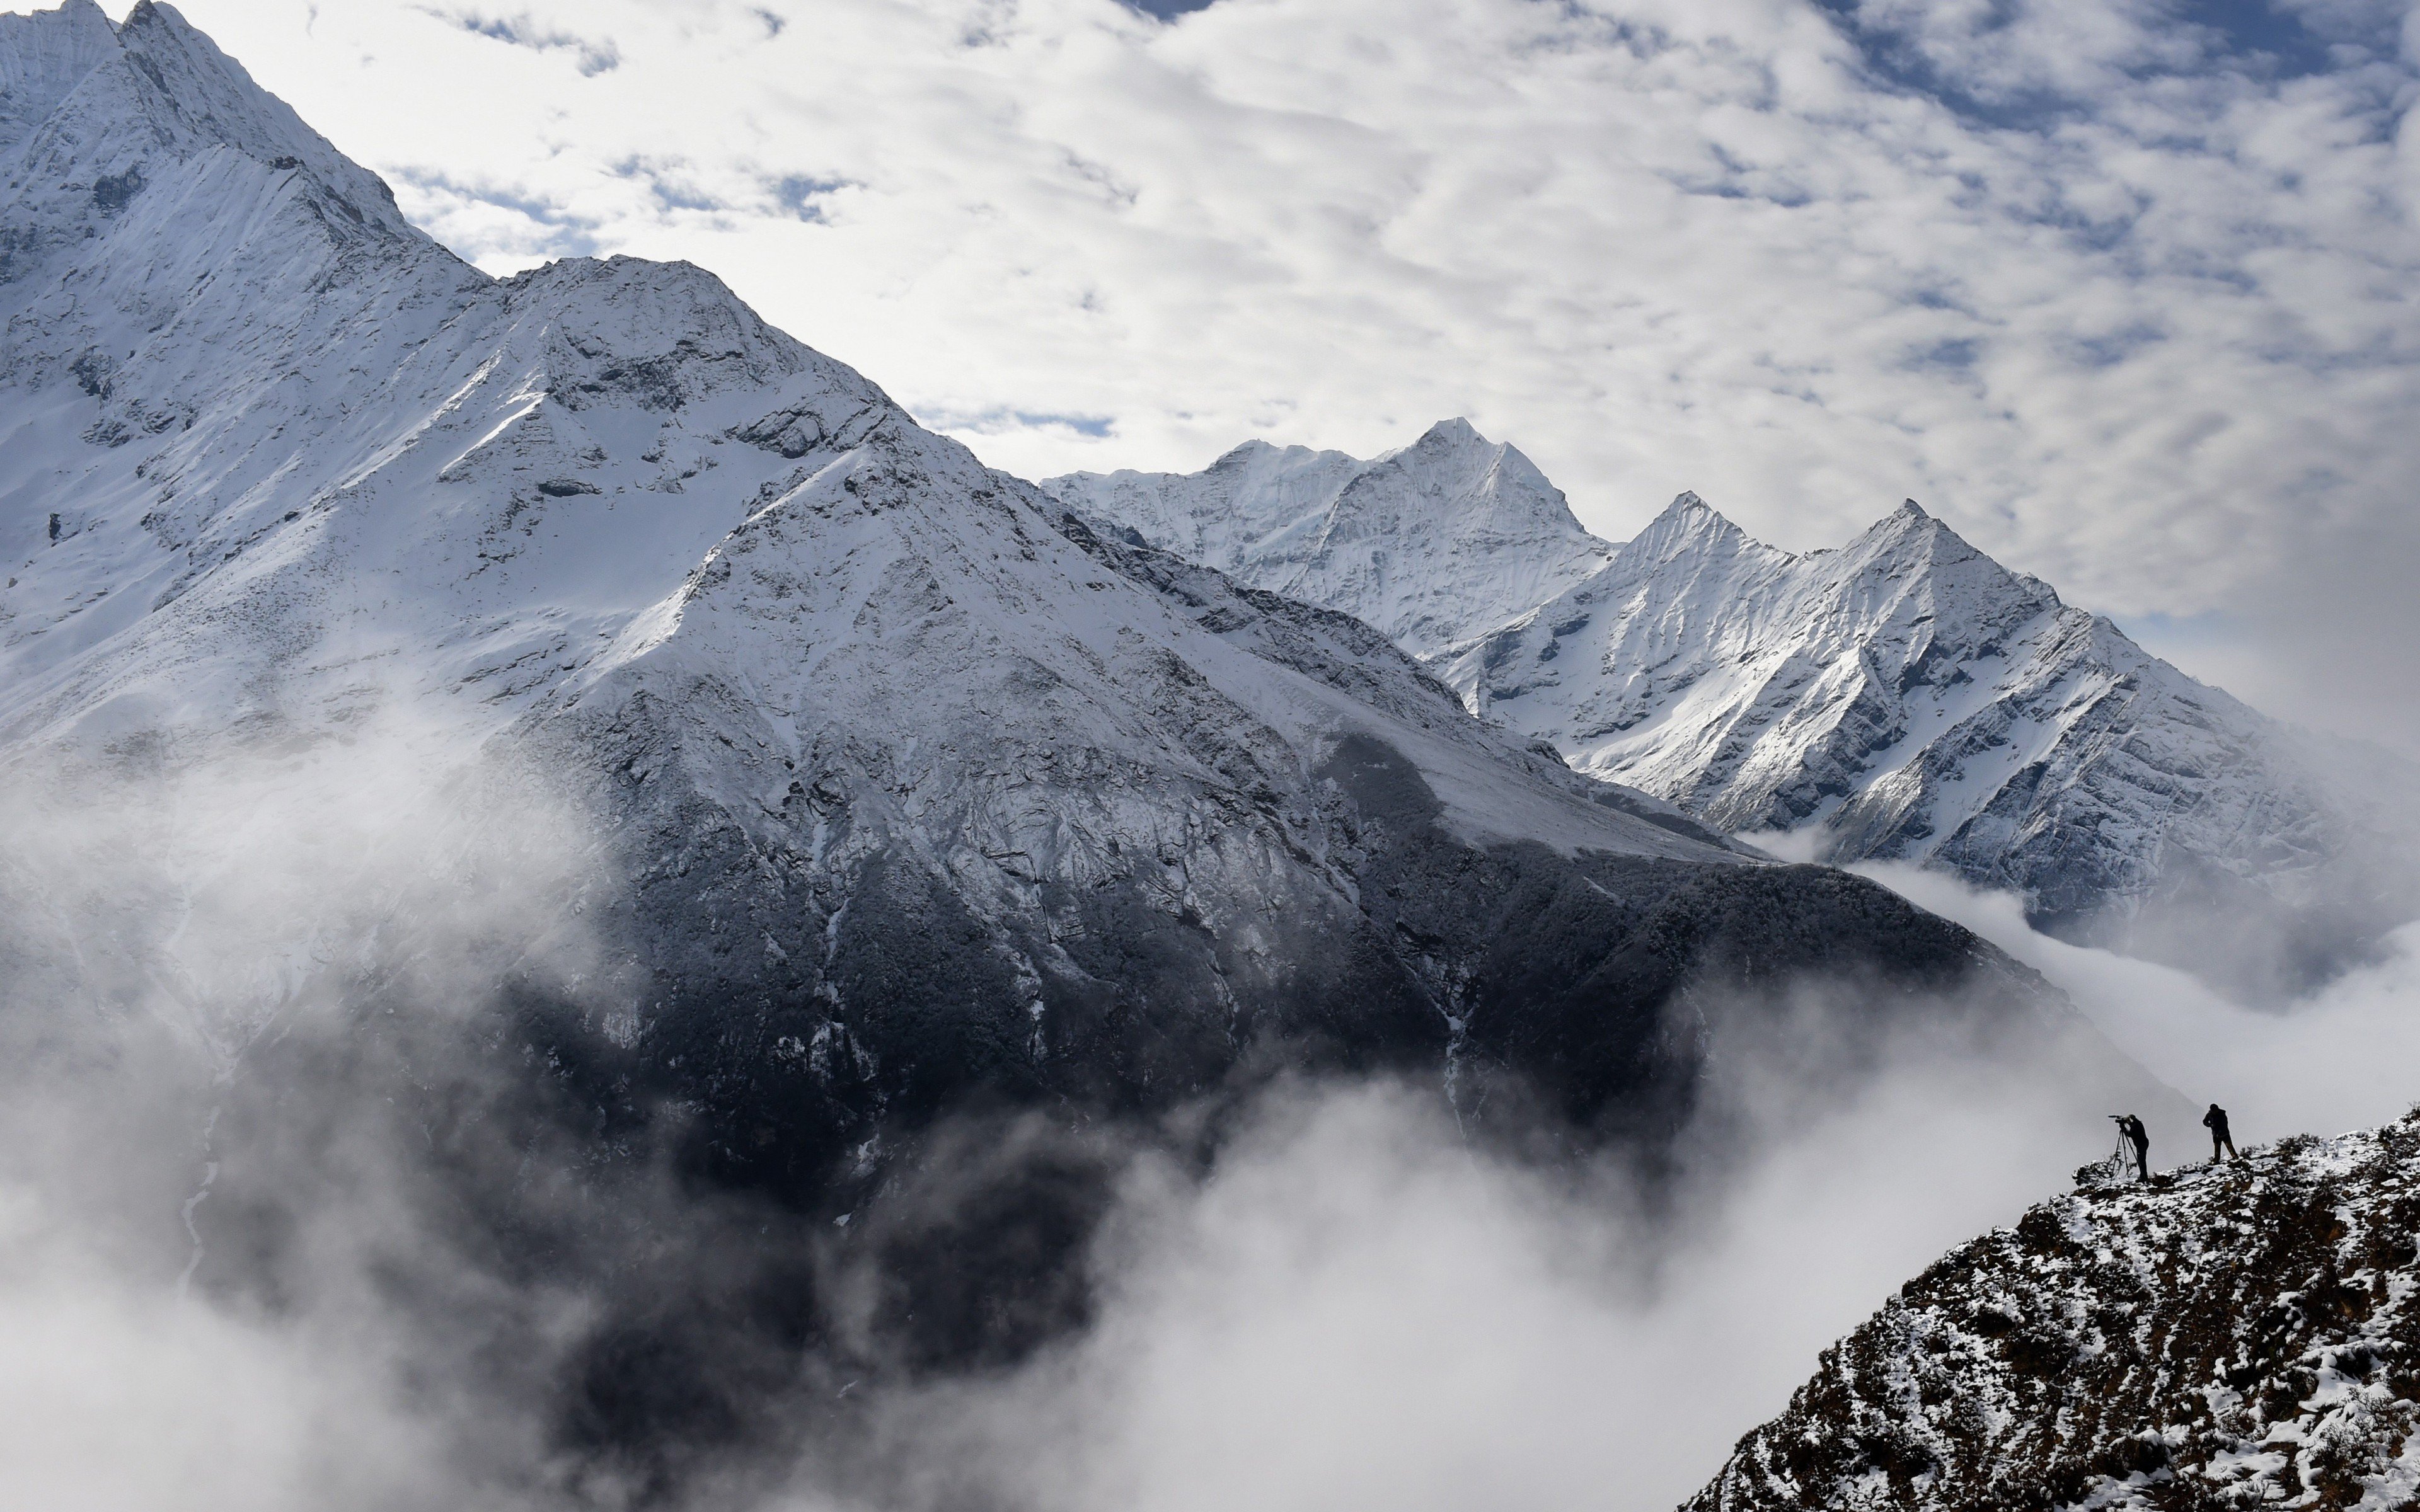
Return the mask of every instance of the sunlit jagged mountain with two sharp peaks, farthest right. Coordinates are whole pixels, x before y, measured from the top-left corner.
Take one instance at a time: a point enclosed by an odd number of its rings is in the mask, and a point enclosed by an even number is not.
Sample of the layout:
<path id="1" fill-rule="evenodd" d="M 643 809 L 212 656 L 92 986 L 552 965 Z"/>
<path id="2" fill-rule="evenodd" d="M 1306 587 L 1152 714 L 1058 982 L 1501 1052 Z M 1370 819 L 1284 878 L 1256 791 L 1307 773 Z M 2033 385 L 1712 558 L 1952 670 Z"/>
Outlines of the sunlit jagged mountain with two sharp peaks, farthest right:
<path id="1" fill-rule="evenodd" d="M 1725 830 L 1813 830 L 2255 994 L 2415 905 L 2396 793 L 2009 573 L 1914 503 L 1791 556 L 1682 496 L 1464 651 L 1464 702 Z M 2405 784 L 2410 789 L 2413 784 Z"/>

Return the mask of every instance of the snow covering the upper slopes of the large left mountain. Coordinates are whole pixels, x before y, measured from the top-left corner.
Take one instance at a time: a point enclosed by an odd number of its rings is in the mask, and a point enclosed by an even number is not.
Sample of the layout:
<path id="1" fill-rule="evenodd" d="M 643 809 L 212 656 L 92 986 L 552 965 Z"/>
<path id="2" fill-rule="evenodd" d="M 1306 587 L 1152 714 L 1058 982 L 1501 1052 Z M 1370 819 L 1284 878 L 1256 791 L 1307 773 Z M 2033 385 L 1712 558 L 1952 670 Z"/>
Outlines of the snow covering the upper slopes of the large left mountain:
<path id="1" fill-rule="evenodd" d="M 796 827 L 818 876 L 912 856 L 1002 939 L 1053 883 L 1137 881 L 1246 946 L 1348 898 L 1319 772 L 1353 735 L 1474 842 L 1750 861 L 1362 624 L 1087 544 L 711 273 L 489 278 L 172 10 L 94 19 L 0 31 L 39 82 L 12 99 L 53 102 L 0 148 L 0 762 L 407 714 L 627 774 L 615 803 L 687 825 L 632 830 L 644 866 Z M 1440 445 L 1542 506 L 1517 455 Z"/>

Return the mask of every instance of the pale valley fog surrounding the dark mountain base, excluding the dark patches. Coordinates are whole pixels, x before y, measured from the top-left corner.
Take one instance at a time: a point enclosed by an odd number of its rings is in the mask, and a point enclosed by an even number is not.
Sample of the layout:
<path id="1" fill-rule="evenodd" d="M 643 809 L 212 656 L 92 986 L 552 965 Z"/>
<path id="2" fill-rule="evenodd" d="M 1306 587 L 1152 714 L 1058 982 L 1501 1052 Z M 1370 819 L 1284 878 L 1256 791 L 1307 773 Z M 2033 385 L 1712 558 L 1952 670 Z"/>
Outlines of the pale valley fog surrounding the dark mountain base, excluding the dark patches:
<path id="1" fill-rule="evenodd" d="M 1125 1159 L 1094 1251 L 1099 1314 L 1060 1347 L 980 1379 L 818 1381 L 777 1403 L 845 1410 L 842 1449 L 806 1435 L 767 1466 L 755 1442 L 682 1466 L 673 1493 L 583 1476 L 532 1381 L 595 1302 L 448 1231 L 431 1135 L 375 1081 L 281 1091 L 298 1135 L 276 1176 L 300 1214 L 281 1243 L 300 1268 L 194 1280 L 230 1064 L 334 1035 L 312 980 L 402 939 L 416 987 L 380 1011 L 469 1018 L 486 1009 L 467 985 L 499 953 L 569 985 L 588 968 L 590 941 L 542 922 L 578 895 L 576 818 L 428 781 L 421 755 L 363 738 L 155 774 L 111 803 L 19 793 L 0 815 L 0 1502 L 1663 1510 L 1827 1340 L 2113 1142 L 2115 1108 L 2062 1067 L 1955 1038 L 1839 1074 L 1827 1045 L 1854 1004 L 1813 999 L 1718 1040 L 1682 1173 L 1655 1193 L 1614 1161 L 1476 1149 L 1435 1086 L 1285 1086 L 1208 1178 Z M 2294 1011 L 2248 1014 L 2045 941 L 2011 900 L 1876 876 L 2067 987 L 2193 1106 L 2226 1103 L 2241 1144 L 2379 1123 L 2415 1096 L 2413 931 Z M 2151 1135 L 2161 1164 L 2202 1154 L 2197 1127 Z M 661 1183 L 634 1200 L 658 1236 L 736 1231 L 731 1210 Z M 651 1251 L 651 1285 L 719 1285 L 711 1243 L 658 1251 L 678 1263 Z"/>

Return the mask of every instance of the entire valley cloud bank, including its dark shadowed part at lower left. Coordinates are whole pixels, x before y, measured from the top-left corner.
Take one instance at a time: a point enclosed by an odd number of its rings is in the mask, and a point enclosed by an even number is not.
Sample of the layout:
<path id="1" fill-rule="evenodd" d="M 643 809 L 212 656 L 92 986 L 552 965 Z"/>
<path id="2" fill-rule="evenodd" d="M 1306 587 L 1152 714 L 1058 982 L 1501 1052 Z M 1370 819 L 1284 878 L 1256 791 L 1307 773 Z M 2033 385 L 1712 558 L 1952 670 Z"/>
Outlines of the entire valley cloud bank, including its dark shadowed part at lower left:
<path id="1" fill-rule="evenodd" d="M 1713 1074 L 1646 1168 L 1469 1139 L 1433 1079 L 1290 1084 L 1215 1161 L 1183 1127 L 944 1130 L 835 1227 L 687 1178 L 680 1110 L 600 1091 L 632 1086 L 583 989 L 610 973 L 561 934 L 600 861 L 542 791 L 375 721 L 162 755 L 0 801 L 0 1328 L 39 1345 L 0 1357 L 12 1505 L 1663 1510 L 1892 1287 L 2103 1154 L 2113 1101 L 2197 1154 L 2096 1035 L 1800 987 L 1696 1004 Z M 1943 905 L 2122 1009 L 2246 1144 L 2297 1127 L 2284 1093 L 2393 1110 L 2413 1064 L 2410 999 L 2372 1002 L 2410 958 L 2200 1018 L 2231 1009 Z M 508 973 L 574 1023 L 535 1033 Z M 1082 1246 L 1096 1185 L 1084 1299 L 946 1272 Z M 937 1282 L 886 1270 L 917 1243 Z M 1079 1326 L 920 1369 L 951 1304 Z"/>

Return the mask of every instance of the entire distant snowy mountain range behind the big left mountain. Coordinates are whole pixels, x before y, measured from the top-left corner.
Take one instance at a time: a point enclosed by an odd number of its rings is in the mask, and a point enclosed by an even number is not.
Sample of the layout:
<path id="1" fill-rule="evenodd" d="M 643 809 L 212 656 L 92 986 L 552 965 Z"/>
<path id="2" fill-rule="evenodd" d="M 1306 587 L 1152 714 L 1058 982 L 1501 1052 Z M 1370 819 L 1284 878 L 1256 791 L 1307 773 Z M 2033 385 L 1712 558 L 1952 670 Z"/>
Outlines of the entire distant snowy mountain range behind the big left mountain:
<path id="1" fill-rule="evenodd" d="M 1043 486 L 1367 617 L 1474 714 L 1716 830 L 1953 871 L 2253 999 L 2420 912 L 2420 772 L 2195 682 L 1914 501 L 1796 556 L 1682 494 L 1612 547 L 1462 421 L 1367 464 L 1256 443 Z"/>

